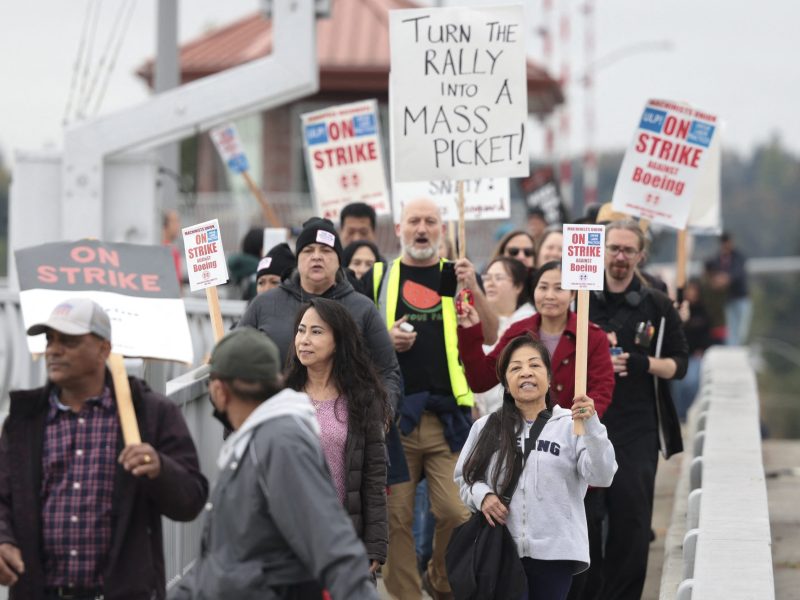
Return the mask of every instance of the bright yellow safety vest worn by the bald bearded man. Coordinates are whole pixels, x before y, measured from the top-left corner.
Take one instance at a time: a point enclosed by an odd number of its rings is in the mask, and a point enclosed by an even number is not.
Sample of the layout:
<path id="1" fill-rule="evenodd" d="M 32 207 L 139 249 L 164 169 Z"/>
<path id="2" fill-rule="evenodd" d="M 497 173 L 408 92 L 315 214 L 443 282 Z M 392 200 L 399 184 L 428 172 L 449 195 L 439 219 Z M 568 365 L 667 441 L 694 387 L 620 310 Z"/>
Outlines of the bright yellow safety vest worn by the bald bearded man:
<path id="1" fill-rule="evenodd" d="M 442 268 L 444 259 L 439 261 Z M 378 310 L 383 313 L 387 329 L 394 325 L 397 312 L 397 298 L 400 295 L 400 259 L 392 261 L 389 267 L 388 281 L 381 287 L 383 280 L 384 263 L 376 262 L 372 267 L 372 297 Z M 447 371 L 450 376 L 450 387 L 459 406 L 473 406 L 475 401 L 469 389 L 467 378 L 464 376 L 464 367 L 458 357 L 458 320 L 456 307 L 452 298 L 442 296 L 442 320 L 444 327 L 444 347 L 447 354 Z"/>

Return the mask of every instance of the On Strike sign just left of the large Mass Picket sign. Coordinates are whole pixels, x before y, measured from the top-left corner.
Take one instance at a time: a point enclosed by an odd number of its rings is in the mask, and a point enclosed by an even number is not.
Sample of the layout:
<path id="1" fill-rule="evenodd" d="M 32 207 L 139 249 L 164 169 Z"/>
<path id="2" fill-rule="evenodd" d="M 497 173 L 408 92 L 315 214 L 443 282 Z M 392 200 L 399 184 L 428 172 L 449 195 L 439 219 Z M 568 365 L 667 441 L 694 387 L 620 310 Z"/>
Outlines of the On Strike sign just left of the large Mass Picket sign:
<path id="1" fill-rule="evenodd" d="M 316 214 L 336 220 L 352 202 L 391 212 L 375 100 L 302 115 L 306 166 Z"/>

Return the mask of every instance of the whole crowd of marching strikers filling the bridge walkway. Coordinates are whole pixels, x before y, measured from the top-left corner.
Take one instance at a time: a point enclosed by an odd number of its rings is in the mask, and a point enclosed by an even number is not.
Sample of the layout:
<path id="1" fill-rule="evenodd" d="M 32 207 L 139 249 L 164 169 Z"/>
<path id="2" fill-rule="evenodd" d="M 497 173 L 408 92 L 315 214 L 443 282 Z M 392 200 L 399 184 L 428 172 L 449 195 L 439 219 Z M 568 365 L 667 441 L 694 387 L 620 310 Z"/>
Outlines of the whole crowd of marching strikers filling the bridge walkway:
<path id="1" fill-rule="evenodd" d="M 679 311 L 643 273 L 639 223 L 598 217 L 580 395 L 560 227 L 510 231 L 482 269 L 452 256 L 427 199 L 404 206 L 392 260 L 363 204 L 338 229 L 306 221 L 293 249 L 248 234 L 250 301 L 208 365 L 229 432 L 211 489 L 202 440 L 137 378 L 142 442 L 124 446 L 107 315 L 54 307 L 28 330 L 47 338 L 47 382 L 11 394 L 0 438 L 0 584 L 32 600 L 351 600 L 377 598 L 380 577 L 399 600 L 640 598 L 658 454 L 682 450 L 691 401 L 675 382 L 713 328 L 700 282 Z M 728 248 L 711 281 L 741 263 Z M 204 519 L 169 593 L 162 516 Z"/>

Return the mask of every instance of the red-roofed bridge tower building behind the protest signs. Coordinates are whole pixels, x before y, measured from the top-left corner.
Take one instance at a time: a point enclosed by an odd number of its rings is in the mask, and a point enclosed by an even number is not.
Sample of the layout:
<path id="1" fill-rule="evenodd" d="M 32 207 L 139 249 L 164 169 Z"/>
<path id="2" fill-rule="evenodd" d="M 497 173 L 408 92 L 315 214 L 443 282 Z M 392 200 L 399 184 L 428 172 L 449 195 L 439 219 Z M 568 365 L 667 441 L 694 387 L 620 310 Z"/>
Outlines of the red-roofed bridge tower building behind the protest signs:
<path id="1" fill-rule="evenodd" d="M 239 124 L 248 154 L 252 139 L 260 149 L 251 156 L 253 174 L 268 191 L 306 191 L 300 115 L 327 106 L 376 98 L 381 104 L 384 134 L 389 84 L 389 14 L 419 8 L 408 0 L 335 0 L 329 19 L 317 21 L 319 92 Z M 184 44 L 180 49 L 181 81 L 187 83 L 268 55 L 272 23 L 257 13 Z M 557 81 L 528 61 L 529 112 L 543 116 L 563 102 Z M 138 74 L 152 86 L 153 61 Z M 248 145 L 248 137 L 251 143 Z M 198 191 L 215 191 L 224 169 L 207 136 L 197 149 Z M 260 156 L 259 156 L 260 154 Z M 215 165 L 212 167 L 212 165 Z"/>

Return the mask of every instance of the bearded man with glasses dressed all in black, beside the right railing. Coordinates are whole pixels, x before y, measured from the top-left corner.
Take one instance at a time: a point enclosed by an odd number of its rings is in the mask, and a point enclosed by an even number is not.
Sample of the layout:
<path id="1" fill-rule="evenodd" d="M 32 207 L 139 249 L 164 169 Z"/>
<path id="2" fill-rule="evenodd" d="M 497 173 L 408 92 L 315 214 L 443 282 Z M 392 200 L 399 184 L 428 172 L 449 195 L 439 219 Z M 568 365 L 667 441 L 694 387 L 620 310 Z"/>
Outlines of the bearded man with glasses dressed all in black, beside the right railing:
<path id="1" fill-rule="evenodd" d="M 601 576 L 601 598 L 641 597 L 659 447 L 667 458 L 683 449 L 667 381 L 686 373 L 688 346 L 671 300 L 636 274 L 644 252 L 635 221 L 606 226 L 605 289 L 591 295 L 589 319 L 622 350 L 611 357 L 616 386 L 602 419 L 619 470 L 596 514 L 587 515 L 590 526 L 608 516 L 608 538 L 604 560 L 591 557 L 584 598 L 595 597 Z"/>

